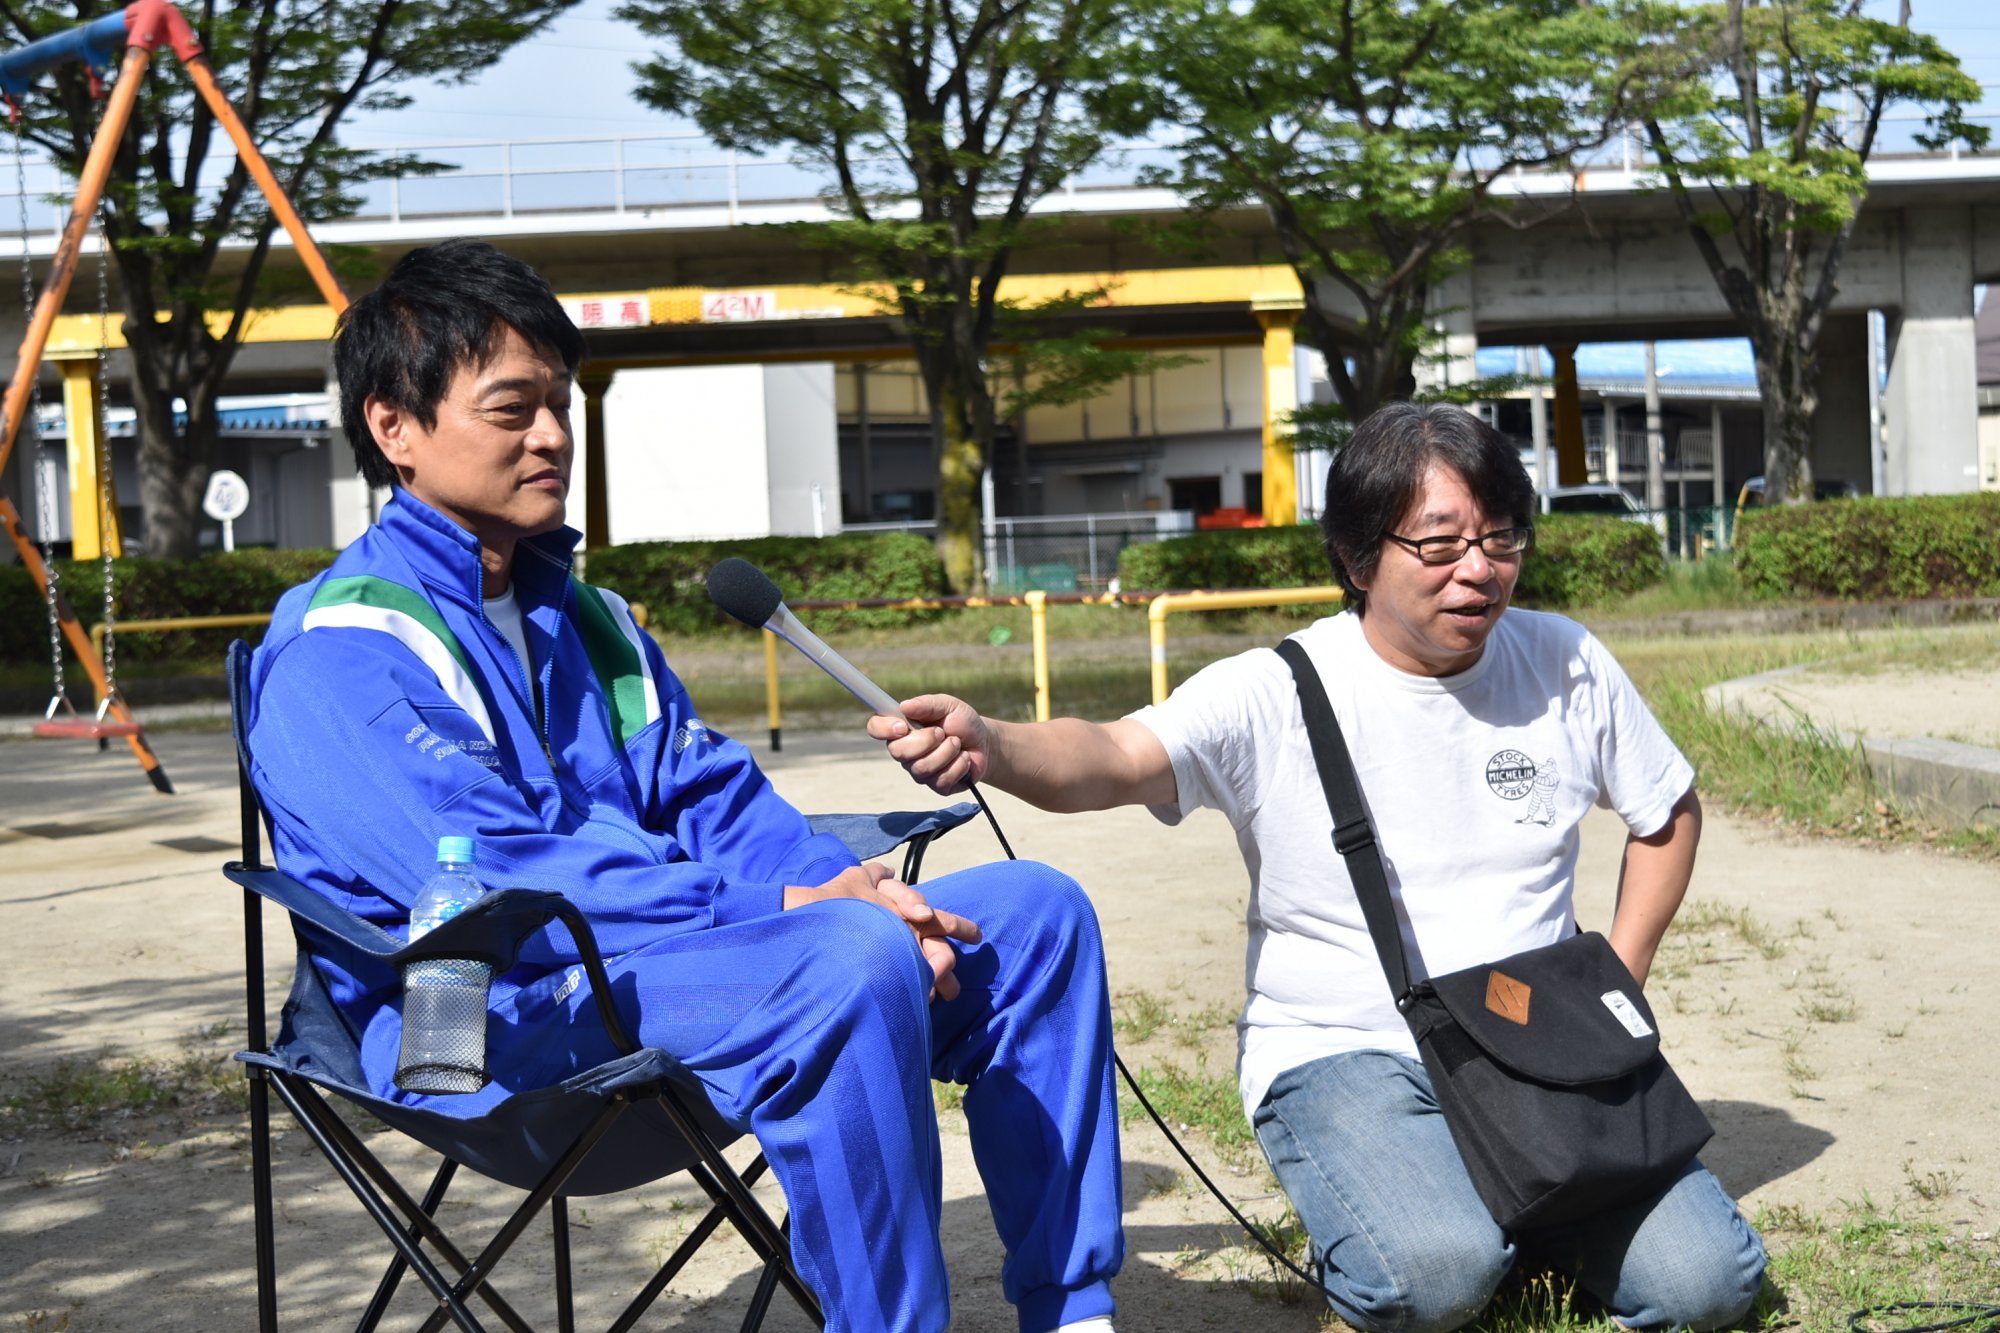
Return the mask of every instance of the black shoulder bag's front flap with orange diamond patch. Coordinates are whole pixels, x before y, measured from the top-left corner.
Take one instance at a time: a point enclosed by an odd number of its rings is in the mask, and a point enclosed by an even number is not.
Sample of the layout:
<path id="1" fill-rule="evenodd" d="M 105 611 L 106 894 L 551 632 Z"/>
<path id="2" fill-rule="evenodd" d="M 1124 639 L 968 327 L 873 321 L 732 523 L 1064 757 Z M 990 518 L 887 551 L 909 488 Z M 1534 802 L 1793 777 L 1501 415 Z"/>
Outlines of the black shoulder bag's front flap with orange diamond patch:
<path id="1" fill-rule="evenodd" d="M 1428 985 L 1486 1055 L 1538 1083 L 1616 1079 L 1660 1049 L 1646 995 L 1596 933 Z"/>

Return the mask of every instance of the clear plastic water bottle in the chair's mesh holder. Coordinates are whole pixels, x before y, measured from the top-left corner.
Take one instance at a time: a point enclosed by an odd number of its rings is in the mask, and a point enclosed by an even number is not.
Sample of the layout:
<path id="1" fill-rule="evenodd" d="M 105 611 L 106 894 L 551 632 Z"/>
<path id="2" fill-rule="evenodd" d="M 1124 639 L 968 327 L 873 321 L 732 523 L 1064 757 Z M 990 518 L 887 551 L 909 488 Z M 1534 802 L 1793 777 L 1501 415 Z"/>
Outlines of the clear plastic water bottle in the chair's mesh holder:
<path id="1" fill-rule="evenodd" d="M 484 893 L 472 877 L 472 839 L 438 839 L 438 873 L 410 907 L 410 943 L 450 921 Z M 486 1087 L 486 985 L 478 959 L 424 959 L 402 969 L 402 1051 L 396 1083 L 412 1093 L 476 1093 Z"/>

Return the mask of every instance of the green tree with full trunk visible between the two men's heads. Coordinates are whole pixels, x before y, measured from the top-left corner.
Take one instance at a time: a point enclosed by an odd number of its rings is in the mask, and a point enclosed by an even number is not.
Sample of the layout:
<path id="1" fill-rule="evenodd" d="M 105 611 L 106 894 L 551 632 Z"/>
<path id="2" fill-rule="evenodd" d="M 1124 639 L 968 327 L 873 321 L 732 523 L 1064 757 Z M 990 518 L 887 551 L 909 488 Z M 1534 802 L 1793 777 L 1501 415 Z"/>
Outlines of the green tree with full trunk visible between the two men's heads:
<path id="1" fill-rule="evenodd" d="M 748 152 L 824 170 L 838 214 L 802 228 L 880 284 L 900 316 L 938 440 L 938 548 L 954 588 L 980 586 L 980 474 L 1004 406 L 994 342 L 1036 342 L 1054 308 L 1006 304 L 1000 280 L 1036 202 L 1104 146 L 1090 114 L 1114 0 L 632 0 L 664 42 L 640 96 Z M 1074 328 L 1066 328 L 1074 338 Z M 1092 392 L 1138 358 L 1102 340 L 1024 354 L 1040 400 Z"/>

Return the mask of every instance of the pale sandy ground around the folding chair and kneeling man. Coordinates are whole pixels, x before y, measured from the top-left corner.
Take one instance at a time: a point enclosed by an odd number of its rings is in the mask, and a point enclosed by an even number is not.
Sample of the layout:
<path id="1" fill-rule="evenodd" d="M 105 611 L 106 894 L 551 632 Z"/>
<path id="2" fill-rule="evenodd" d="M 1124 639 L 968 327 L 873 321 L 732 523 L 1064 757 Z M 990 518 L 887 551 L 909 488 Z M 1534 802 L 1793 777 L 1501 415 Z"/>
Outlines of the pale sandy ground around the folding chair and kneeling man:
<path id="1" fill-rule="evenodd" d="M 30 1095 L 64 1057 L 206 1061 L 242 1041 L 240 895 L 216 873 L 236 841 L 228 739 L 156 741 L 180 787 L 174 799 L 156 797 L 122 751 L 0 743 L 0 923 L 10 939 L 0 1099 Z M 804 809 L 926 805 L 858 733 L 788 737 L 768 767 Z M 1206 1059 L 1210 1073 L 1226 1071 L 1246 895 L 1228 827 L 1198 817 L 1162 829 L 1142 811 L 1052 817 L 1006 797 L 994 805 L 1016 851 L 1090 889 L 1120 1007 L 1156 1003 L 1182 1019 L 1184 1037 L 1154 1037 L 1128 1049 L 1128 1061 L 1192 1069 Z M 1584 837 L 1580 913 L 1604 927 L 1620 827 L 1600 815 Z M 926 875 L 994 855 L 990 835 L 972 827 L 932 853 Z M 266 935 L 276 997 L 290 943 L 280 927 Z M 1996 1231 L 2000 1061 L 1980 1037 L 2000 1009 L 1996 939 L 1992 863 L 1788 841 L 1710 817 L 1650 995 L 1682 1079 L 1716 1123 L 1704 1157 L 1748 1209 L 1838 1211 L 1868 1199 L 1964 1233 Z M 944 1115 L 944 1151 L 954 1327 L 1002 1333 L 1014 1327 L 1000 1297 L 1002 1255 L 956 1111 Z M 1260 1163 L 1202 1157 L 1244 1207 L 1280 1211 Z M 1130 1123 L 1124 1161 L 1122 1327 L 1320 1325 L 1314 1307 L 1268 1295 L 1266 1265 L 1238 1247 L 1156 1129 Z M 344 1327 L 380 1247 L 298 1131 L 278 1145 L 278 1175 L 286 1323 Z M 246 1137 L 222 1099 L 72 1131 L 34 1127 L 32 1109 L 0 1113 L 0 1329 L 254 1327 L 248 1199 Z M 446 1215 L 478 1235 L 510 1199 L 468 1189 Z M 620 1293 L 692 1225 L 694 1203 L 688 1185 L 576 1203 L 582 1327 L 612 1319 Z M 516 1255 L 526 1279 L 504 1285 L 536 1325 L 552 1323 L 532 1281 L 546 1271 L 544 1253 L 538 1223 Z M 734 1239 L 704 1253 L 642 1327 L 736 1327 L 754 1285 L 750 1255 Z M 396 1309 L 402 1323 L 388 1327 L 414 1327 L 420 1301 L 408 1289 Z M 806 1325 L 780 1309 L 772 1327 Z"/>

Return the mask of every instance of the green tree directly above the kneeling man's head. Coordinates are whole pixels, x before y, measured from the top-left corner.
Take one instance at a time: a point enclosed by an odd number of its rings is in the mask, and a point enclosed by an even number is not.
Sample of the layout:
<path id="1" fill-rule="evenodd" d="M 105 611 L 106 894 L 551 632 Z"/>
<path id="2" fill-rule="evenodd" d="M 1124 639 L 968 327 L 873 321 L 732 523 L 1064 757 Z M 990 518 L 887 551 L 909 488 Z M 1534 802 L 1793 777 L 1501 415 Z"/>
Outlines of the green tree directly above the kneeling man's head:
<path id="1" fill-rule="evenodd" d="M 1184 136 L 1156 178 L 1196 218 L 1266 212 L 1358 422 L 1414 392 L 1468 232 L 1562 206 L 1496 186 L 1604 142 L 1626 32 L 1574 0 L 1158 0 L 1132 64 Z"/>

